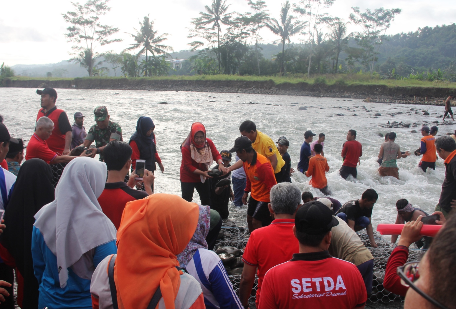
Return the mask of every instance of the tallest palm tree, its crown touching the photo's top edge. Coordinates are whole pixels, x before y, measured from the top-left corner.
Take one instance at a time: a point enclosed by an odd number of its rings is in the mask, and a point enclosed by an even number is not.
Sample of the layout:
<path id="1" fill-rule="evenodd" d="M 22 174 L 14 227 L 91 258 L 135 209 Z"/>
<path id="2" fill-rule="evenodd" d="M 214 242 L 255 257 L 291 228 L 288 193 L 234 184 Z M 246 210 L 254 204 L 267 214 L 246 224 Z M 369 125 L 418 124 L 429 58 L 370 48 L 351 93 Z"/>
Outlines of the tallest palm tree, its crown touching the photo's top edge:
<path id="1" fill-rule="evenodd" d="M 229 18 L 233 13 L 227 13 L 228 7 L 226 0 L 212 0 L 211 7 L 205 5 L 206 12 L 200 12 L 201 20 L 198 22 L 198 26 L 206 26 L 212 24 L 212 29 L 217 27 L 217 57 L 218 57 L 218 71 L 220 72 L 220 32 L 222 28 L 220 23 L 223 25 L 229 25 Z"/>

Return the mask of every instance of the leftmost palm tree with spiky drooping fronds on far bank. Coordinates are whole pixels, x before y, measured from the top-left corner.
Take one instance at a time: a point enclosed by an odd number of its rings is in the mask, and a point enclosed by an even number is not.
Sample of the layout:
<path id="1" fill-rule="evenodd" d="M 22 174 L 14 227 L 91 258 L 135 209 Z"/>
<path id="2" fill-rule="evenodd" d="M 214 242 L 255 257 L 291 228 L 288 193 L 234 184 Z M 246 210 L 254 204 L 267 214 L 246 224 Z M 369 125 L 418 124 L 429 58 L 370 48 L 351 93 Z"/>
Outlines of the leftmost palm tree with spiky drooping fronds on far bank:
<path id="1" fill-rule="evenodd" d="M 136 30 L 136 34 L 131 34 L 135 39 L 136 43 L 130 44 L 131 46 L 126 48 L 125 50 L 134 50 L 137 48 L 141 48 L 138 52 L 136 57 L 144 54 L 145 52 L 145 62 L 147 63 L 147 52 L 150 51 L 153 57 L 155 54 L 162 55 L 168 54 L 168 51 L 173 51 L 171 46 L 161 44 L 163 41 L 166 41 L 168 38 L 164 37 L 167 36 L 168 33 L 163 33 L 160 36 L 156 36 L 158 31 L 154 31 L 154 21 L 149 20 L 149 15 L 144 16 L 144 21 L 140 22 L 140 30 Z M 145 69 L 145 76 L 147 75 L 147 67 Z M 150 71 L 149 71 L 150 74 Z"/>

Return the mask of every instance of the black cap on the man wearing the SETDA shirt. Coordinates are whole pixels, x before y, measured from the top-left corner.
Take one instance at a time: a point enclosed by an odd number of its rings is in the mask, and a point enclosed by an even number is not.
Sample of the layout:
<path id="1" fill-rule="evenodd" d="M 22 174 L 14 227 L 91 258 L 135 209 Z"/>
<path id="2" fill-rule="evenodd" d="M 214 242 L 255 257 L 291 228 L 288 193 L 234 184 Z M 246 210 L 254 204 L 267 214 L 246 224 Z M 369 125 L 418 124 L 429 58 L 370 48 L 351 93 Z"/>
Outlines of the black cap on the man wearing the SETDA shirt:
<path id="1" fill-rule="evenodd" d="M 296 230 L 311 235 L 325 234 L 339 224 L 331 209 L 319 201 L 307 202 L 296 211 Z"/>

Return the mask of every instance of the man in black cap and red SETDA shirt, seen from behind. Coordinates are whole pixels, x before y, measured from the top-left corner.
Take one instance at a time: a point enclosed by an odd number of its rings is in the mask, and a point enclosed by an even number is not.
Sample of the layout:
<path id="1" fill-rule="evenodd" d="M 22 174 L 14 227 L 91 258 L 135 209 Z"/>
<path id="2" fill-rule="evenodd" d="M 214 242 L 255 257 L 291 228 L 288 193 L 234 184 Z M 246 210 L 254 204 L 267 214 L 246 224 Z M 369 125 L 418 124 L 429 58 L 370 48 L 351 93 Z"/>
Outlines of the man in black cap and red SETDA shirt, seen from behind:
<path id="1" fill-rule="evenodd" d="M 338 224 L 332 211 L 319 201 L 296 211 L 293 232 L 299 253 L 266 273 L 260 309 L 364 308 L 367 293 L 358 268 L 328 252 L 331 229 Z"/>

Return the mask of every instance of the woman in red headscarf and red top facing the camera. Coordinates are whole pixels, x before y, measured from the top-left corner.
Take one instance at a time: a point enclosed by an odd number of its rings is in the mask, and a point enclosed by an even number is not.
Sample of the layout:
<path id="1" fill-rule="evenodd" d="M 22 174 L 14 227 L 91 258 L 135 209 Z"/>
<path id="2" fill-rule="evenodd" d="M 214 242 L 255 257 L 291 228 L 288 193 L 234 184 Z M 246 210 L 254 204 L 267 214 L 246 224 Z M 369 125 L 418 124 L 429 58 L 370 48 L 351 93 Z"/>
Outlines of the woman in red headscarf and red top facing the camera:
<path id="1" fill-rule="evenodd" d="M 218 163 L 218 170 L 226 174 L 222 156 L 218 153 L 212 140 L 206 138 L 206 129 L 199 122 L 192 124 L 190 134 L 181 144 L 181 191 L 182 198 L 191 202 L 193 191 L 197 189 L 200 195 L 201 205 L 209 205 L 210 187 L 207 175 L 212 161 Z"/>

